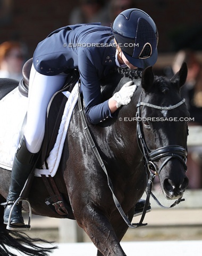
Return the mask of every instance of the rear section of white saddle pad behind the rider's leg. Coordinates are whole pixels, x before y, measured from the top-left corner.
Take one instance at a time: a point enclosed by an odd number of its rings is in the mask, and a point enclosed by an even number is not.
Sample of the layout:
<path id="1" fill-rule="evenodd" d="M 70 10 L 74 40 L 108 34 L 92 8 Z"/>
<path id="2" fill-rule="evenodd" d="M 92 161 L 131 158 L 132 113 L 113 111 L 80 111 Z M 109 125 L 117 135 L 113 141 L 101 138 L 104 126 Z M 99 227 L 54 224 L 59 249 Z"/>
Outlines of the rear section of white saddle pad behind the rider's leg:
<path id="1" fill-rule="evenodd" d="M 27 112 L 28 98 L 16 87 L 0 101 L 0 167 L 11 170 L 20 131 Z"/>

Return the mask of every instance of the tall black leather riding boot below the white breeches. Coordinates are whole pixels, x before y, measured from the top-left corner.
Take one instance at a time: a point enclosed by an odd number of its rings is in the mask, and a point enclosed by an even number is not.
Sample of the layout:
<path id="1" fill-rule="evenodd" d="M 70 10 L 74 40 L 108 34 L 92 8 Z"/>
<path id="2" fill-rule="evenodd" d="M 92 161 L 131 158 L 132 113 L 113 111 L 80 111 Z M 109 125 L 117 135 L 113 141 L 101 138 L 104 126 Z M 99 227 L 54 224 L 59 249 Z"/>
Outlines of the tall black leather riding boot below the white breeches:
<path id="1" fill-rule="evenodd" d="M 14 202 L 19 198 L 20 193 L 29 177 L 30 172 L 35 167 L 37 154 L 30 153 L 26 147 L 24 138 L 16 151 L 11 172 L 11 185 L 7 196 L 7 205 L 4 210 L 4 224 L 9 221 L 9 214 Z M 11 225 L 22 226 L 22 202 L 16 204 L 11 215 Z"/>

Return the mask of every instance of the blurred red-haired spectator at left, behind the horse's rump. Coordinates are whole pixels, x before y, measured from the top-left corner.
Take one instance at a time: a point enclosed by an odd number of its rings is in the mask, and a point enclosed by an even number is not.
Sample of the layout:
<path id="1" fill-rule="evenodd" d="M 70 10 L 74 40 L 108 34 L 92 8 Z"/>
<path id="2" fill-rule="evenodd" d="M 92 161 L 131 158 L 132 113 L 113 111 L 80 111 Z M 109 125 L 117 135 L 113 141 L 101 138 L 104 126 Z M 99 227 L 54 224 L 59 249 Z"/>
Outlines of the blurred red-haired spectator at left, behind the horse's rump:
<path id="1" fill-rule="evenodd" d="M 7 41 L 0 44 L 0 77 L 19 81 L 22 78 L 24 57 L 25 52 L 21 43 Z"/>

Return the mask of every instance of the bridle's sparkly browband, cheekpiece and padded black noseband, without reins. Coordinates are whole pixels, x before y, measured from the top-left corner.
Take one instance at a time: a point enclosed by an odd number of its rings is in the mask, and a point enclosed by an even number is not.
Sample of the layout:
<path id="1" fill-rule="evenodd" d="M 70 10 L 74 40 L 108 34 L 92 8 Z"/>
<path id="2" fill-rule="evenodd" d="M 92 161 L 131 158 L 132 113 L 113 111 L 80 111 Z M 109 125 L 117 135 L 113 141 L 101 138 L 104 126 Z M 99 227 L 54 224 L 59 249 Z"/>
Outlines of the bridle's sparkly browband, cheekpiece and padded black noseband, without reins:
<path id="1" fill-rule="evenodd" d="M 174 108 L 179 107 L 182 105 L 185 101 L 185 99 L 182 99 L 179 103 L 176 105 L 170 106 L 170 107 L 161 107 L 161 106 L 156 106 L 152 105 L 146 102 L 141 102 L 141 97 L 142 93 L 139 98 L 139 102 L 137 104 L 137 113 L 136 113 L 136 119 L 137 119 L 137 139 L 138 139 L 138 146 L 140 148 L 140 151 L 142 155 L 145 158 L 145 161 L 147 163 L 147 167 L 150 173 L 153 173 L 155 175 L 159 175 L 161 170 L 163 169 L 164 165 L 170 161 L 172 158 L 177 158 L 179 161 L 182 163 L 184 170 L 187 171 L 187 150 L 181 146 L 178 145 L 169 145 L 165 146 L 162 148 L 155 149 L 153 151 L 150 151 L 149 148 L 147 147 L 146 141 L 145 141 L 145 136 L 144 132 L 142 129 L 142 118 L 141 118 L 141 111 L 140 111 L 140 106 L 147 106 L 150 108 L 156 108 L 159 110 L 171 110 Z M 156 164 L 154 161 L 162 158 L 162 157 L 167 157 L 165 161 L 162 163 L 162 165 L 157 168 Z"/>

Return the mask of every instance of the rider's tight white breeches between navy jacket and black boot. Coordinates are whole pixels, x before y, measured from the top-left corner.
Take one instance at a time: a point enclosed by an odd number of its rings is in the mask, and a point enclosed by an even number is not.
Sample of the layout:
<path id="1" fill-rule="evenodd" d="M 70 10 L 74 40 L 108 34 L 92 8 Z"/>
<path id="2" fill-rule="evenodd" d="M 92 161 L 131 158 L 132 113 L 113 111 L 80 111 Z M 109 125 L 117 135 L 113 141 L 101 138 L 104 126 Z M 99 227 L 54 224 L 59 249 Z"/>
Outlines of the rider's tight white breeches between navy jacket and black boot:
<path id="1" fill-rule="evenodd" d="M 24 132 L 27 149 L 31 153 L 40 150 L 44 139 L 46 110 L 53 94 L 64 85 L 66 74 L 55 76 L 39 74 L 31 67 L 29 78 L 27 125 Z"/>

